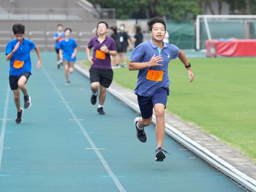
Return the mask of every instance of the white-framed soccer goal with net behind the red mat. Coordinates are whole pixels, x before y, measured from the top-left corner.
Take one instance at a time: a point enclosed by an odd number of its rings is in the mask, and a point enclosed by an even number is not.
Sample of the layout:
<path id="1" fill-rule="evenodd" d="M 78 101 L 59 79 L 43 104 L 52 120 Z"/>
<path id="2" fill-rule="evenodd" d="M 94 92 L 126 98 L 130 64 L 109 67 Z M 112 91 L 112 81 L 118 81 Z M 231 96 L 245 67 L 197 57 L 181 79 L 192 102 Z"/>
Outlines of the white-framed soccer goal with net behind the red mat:
<path id="1" fill-rule="evenodd" d="M 212 39 L 255 39 L 256 15 L 197 15 L 196 49 Z"/>

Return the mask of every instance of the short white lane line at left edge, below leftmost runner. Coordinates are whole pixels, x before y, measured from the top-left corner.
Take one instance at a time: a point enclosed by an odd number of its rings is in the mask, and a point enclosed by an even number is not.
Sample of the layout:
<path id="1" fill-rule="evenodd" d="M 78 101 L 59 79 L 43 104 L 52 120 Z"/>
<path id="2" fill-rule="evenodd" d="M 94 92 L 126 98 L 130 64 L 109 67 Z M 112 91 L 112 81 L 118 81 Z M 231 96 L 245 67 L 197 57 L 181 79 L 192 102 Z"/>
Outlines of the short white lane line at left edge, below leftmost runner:
<path id="1" fill-rule="evenodd" d="M 5 133 L 5 127 L 6 127 L 6 120 L 7 120 L 9 97 L 10 97 L 10 85 L 8 84 L 5 105 L 4 105 L 4 118 L 3 118 L 2 131 L 0 136 L 0 172 L 1 172 L 1 162 L 2 162 L 2 156 L 3 156 L 4 133 Z"/>

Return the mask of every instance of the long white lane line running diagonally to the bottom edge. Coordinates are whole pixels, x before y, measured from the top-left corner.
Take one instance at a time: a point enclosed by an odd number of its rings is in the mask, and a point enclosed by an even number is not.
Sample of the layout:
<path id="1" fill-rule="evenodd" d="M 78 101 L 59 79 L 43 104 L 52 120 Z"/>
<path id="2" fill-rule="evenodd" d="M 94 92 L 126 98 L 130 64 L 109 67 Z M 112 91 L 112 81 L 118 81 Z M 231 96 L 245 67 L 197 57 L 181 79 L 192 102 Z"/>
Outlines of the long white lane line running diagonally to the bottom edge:
<path id="1" fill-rule="evenodd" d="M 120 183 L 120 181 L 116 178 L 116 176 L 114 175 L 114 173 L 112 172 L 112 170 L 110 169 L 110 167 L 108 166 L 107 162 L 105 161 L 104 157 L 100 154 L 99 150 L 97 149 L 97 147 L 95 146 L 95 144 L 93 143 L 92 139 L 90 138 L 90 136 L 88 135 L 88 133 L 85 131 L 84 126 L 80 123 L 80 121 L 78 120 L 78 118 L 76 117 L 75 113 L 73 112 L 73 110 L 70 108 L 70 106 L 68 105 L 67 101 L 64 99 L 63 95 L 61 94 L 61 92 L 59 91 L 59 89 L 57 88 L 57 86 L 55 85 L 55 83 L 53 82 L 52 78 L 49 76 L 49 74 L 47 73 L 47 71 L 44 69 L 44 67 L 42 67 L 42 69 L 44 70 L 44 73 L 46 74 L 46 76 L 48 77 L 48 79 L 50 80 L 50 82 L 52 83 L 52 86 L 54 87 L 54 90 L 59 94 L 61 100 L 63 101 L 63 103 L 66 105 L 67 109 L 69 110 L 70 114 L 73 116 L 73 118 L 75 119 L 76 123 L 78 124 L 78 126 L 80 127 L 80 129 L 82 130 L 82 132 L 84 133 L 84 136 L 86 137 L 86 139 L 89 141 L 90 145 L 92 146 L 93 150 L 95 151 L 95 153 L 97 154 L 97 156 L 99 157 L 100 161 L 102 162 L 103 166 L 105 167 L 105 169 L 107 170 L 108 174 L 111 176 L 111 178 L 113 179 L 113 181 L 116 183 L 116 186 L 118 187 L 118 189 L 121 192 L 125 192 L 125 189 L 123 188 L 122 184 Z"/>

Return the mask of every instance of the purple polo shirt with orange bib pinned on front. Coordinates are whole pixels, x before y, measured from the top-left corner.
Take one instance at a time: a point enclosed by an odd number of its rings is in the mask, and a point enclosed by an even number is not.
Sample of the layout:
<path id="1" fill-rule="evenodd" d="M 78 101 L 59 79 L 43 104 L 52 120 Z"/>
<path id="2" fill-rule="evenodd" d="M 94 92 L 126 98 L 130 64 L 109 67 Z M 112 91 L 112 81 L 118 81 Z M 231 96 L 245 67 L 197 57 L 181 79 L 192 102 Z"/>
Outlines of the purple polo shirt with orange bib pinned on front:
<path id="1" fill-rule="evenodd" d="M 100 51 L 100 47 L 105 44 L 110 51 L 116 51 L 116 43 L 115 40 L 111 37 L 106 36 L 106 39 L 100 43 L 98 41 L 98 36 L 92 37 L 87 47 L 91 49 L 93 47 L 93 65 L 91 68 L 97 69 L 111 69 L 111 60 L 110 55 L 108 53 L 103 53 Z M 96 54 L 97 52 L 97 54 Z"/>

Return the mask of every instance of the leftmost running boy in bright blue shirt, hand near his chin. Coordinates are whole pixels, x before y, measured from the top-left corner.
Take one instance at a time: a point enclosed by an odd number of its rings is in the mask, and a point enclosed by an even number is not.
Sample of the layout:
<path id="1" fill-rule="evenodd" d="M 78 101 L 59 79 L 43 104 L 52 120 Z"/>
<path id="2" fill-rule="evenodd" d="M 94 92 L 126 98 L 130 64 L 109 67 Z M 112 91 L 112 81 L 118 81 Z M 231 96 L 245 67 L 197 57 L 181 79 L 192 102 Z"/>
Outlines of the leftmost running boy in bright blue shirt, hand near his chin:
<path id="1" fill-rule="evenodd" d="M 41 57 L 37 45 L 30 40 L 24 38 L 25 27 L 20 23 L 16 23 L 12 27 L 15 40 L 11 40 L 6 48 L 6 60 L 10 60 L 9 82 L 11 90 L 14 93 L 14 102 L 18 110 L 15 122 L 22 122 L 23 108 L 20 108 L 20 89 L 24 94 L 24 108 L 31 107 L 31 98 L 28 96 L 28 90 L 25 86 L 31 75 L 30 51 L 35 49 L 38 62 L 37 68 L 41 67 Z"/>

